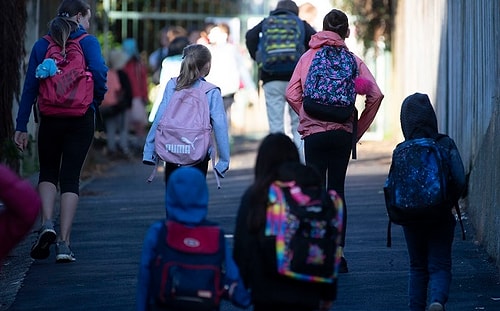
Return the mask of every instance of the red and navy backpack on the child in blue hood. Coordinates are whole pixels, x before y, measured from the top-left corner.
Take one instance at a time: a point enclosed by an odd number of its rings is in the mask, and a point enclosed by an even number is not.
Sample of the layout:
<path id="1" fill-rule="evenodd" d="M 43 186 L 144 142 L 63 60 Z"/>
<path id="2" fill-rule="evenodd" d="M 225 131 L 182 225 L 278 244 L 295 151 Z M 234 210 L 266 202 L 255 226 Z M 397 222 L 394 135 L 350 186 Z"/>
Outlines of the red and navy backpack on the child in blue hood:
<path id="1" fill-rule="evenodd" d="M 168 310 L 219 310 L 226 291 L 224 233 L 208 221 L 188 227 L 167 221 L 151 268 L 151 293 Z"/>

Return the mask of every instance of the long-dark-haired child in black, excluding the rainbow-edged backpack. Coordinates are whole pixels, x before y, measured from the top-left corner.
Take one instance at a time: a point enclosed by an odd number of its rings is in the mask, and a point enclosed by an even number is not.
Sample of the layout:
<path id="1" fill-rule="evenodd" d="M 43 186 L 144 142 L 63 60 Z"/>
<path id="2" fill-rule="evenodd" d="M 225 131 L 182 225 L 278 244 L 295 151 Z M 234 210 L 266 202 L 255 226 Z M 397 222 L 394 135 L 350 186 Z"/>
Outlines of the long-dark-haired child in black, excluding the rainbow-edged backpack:
<path id="1" fill-rule="evenodd" d="M 278 180 L 281 164 L 299 163 L 292 140 L 283 133 L 269 134 L 261 143 L 255 179 L 245 191 L 236 219 L 233 257 L 245 286 L 251 290 L 254 311 L 328 310 L 336 297 L 336 284 L 298 281 L 278 275 L 276 263 L 262 243 L 266 226 L 269 186 Z"/>

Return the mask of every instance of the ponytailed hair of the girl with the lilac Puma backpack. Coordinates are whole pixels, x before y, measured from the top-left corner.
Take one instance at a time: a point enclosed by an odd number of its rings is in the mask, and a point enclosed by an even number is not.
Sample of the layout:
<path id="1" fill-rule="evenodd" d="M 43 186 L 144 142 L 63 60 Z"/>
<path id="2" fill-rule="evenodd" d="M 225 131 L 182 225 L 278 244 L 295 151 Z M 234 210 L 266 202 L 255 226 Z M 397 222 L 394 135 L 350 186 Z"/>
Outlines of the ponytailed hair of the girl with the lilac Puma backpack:
<path id="1" fill-rule="evenodd" d="M 202 69 L 212 61 L 210 50 L 202 44 L 191 44 L 182 53 L 181 71 L 177 77 L 176 91 L 191 87 L 199 78 L 208 72 Z"/>

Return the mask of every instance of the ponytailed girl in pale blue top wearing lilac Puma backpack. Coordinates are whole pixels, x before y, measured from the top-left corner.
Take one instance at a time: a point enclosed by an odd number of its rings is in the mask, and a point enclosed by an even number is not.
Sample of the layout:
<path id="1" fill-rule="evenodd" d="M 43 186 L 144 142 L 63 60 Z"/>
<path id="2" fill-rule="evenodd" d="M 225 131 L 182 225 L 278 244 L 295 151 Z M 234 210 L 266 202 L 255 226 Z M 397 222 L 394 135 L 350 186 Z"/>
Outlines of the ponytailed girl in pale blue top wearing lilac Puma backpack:
<path id="1" fill-rule="evenodd" d="M 185 91 L 195 91 L 194 88 L 205 88 L 207 86 L 207 82 L 205 81 L 205 77 L 210 72 L 211 59 L 212 56 L 208 48 L 201 44 L 192 44 L 184 48 L 183 56 L 182 56 L 182 64 L 181 71 L 177 78 L 172 78 L 167 83 L 165 87 L 165 92 L 163 94 L 163 99 L 158 107 L 158 112 L 155 115 L 155 119 L 153 124 L 151 125 L 151 129 L 146 137 L 146 143 L 144 145 L 144 154 L 143 154 L 143 163 L 147 165 L 156 165 L 160 156 L 158 155 L 159 150 L 157 150 L 157 146 L 155 146 L 155 141 L 158 140 L 158 126 L 162 123 L 163 115 L 166 113 L 166 110 L 173 105 L 176 105 L 178 108 L 177 111 L 183 109 L 189 109 L 189 106 L 183 101 L 178 100 L 180 92 Z M 187 94 L 187 93 L 186 93 Z M 192 97 L 195 93 L 187 94 L 188 97 Z M 229 135 L 228 135 L 228 126 L 226 113 L 224 111 L 224 103 L 222 100 L 221 92 L 218 87 L 210 87 L 205 95 L 208 100 L 208 109 L 209 109 L 209 121 L 210 125 L 213 129 L 213 133 L 215 136 L 217 153 L 219 156 L 218 162 L 214 165 L 214 170 L 216 174 L 220 177 L 224 177 L 224 173 L 229 168 Z M 185 105 L 184 108 L 182 105 Z M 188 107 L 188 108 L 185 108 Z M 198 106 L 201 108 L 205 108 L 203 106 Z M 173 109 L 173 107 L 172 107 Z M 192 116 L 196 116 L 200 113 L 200 111 L 188 111 L 187 113 Z M 185 116 L 185 112 L 182 113 Z M 189 120 L 185 120 L 185 122 L 190 122 Z M 167 125 L 167 124 L 166 124 Z M 186 124 L 183 124 L 186 127 Z M 193 129 L 191 129 L 193 130 Z M 180 131 L 180 130 L 179 130 Z M 171 136 L 188 136 L 186 133 L 173 133 Z M 191 150 L 194 151 L 195 148 L 191 148 L 191 145 L 196 145 L 195 142 L 198 140 L 198 136 L 191 141 L 188 141 L 188 138 L 182 137 L 182 142 L 179 145 L 175 145 L 173 147 L 178 149 L 182 149 L 184 151 Z M 163 150 L 165 151 L 165 150 Z M 170 152 L 171 151 L 171 152 Z M 170 150 L 168 152 L 175 153 L 175 151 Z M 205 150 L 203 150 L 205 152 Z M 183 152 L 179 152 L 183 153 Z M 205 176 L 208 171 L 208 162 L 211 158 L 211 155 L 215 153 L 214 146 L 210 146 L 206 153 L 201 155 L 201 159 L 197 159 L 192 164 L 186 163 L 174 163 L 172 161 L 165 160 L 165 183 L 168 181 L 170 174 L 177 168 L 181 166 L 194 166 L 199 169 Z M 213 159 L 215 161 L 215 159 Z"/>

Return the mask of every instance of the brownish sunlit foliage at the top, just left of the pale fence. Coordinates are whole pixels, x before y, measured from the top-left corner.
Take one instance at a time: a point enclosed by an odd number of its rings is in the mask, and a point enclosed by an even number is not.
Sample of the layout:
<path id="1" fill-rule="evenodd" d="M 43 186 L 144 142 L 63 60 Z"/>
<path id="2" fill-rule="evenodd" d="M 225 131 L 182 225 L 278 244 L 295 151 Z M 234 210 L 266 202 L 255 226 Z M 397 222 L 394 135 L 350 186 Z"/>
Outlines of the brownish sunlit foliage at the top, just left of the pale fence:
<path id="1" fill-rule="evenodd" d="M 355 16 L 356 33 L 363 41 L 365 51 L 378 50 L 383 42 L 385 49 L 391 49 L 393 27 L 393 0 L 333 0 L 339 9 Z"/>

